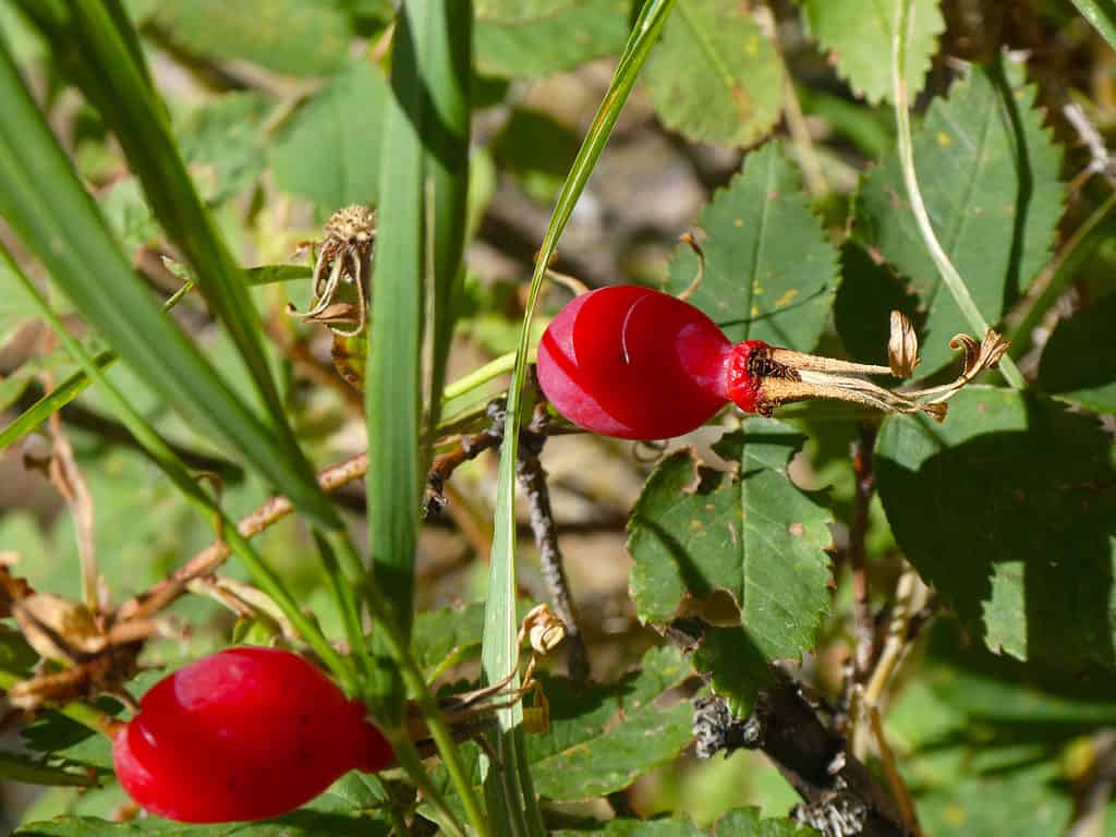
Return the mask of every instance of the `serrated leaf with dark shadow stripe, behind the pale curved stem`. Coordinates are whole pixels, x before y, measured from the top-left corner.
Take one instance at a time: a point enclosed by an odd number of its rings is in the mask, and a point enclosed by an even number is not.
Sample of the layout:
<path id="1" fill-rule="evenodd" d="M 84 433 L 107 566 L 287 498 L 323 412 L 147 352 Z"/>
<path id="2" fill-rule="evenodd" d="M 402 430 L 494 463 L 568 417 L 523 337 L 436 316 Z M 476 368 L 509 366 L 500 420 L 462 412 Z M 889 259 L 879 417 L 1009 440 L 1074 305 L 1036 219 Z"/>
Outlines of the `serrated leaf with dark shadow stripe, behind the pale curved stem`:
<path id="1" fill-rule="evenodd" d="M 1061 215 L 1061 150 L 1035 97 L 1019 67 L 975 68 L 934 100 L 914 137 L 931 222 L 992 324 L 1046 262 Z M 953 335 L 971 329 L 941 287 L 905 195 L 893 153 L 865 177 L 854 234 L 911 278 L 925 311 L 920 371 L 930 374 L 950 360 Z"/>

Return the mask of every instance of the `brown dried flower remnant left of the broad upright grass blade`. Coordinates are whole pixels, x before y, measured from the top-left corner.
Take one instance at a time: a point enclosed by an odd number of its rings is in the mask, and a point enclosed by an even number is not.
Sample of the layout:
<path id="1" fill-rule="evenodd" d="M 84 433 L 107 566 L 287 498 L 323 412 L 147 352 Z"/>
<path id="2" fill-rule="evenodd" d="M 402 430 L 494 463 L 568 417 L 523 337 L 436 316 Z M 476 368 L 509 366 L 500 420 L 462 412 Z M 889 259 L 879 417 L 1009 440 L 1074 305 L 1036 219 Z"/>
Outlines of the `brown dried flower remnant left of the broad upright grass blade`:
<path id="1" fill-rule="evenodd" d="M 323 232 L 314 264 L 314 302 L 304 314 L 294 306 L 288 306 L 288 312 L 307 323 L 321 323 L 339 337 L 355 337 L 367 324 L 376 213 L 360 204 L 346 206 L 329 217 Z"/>

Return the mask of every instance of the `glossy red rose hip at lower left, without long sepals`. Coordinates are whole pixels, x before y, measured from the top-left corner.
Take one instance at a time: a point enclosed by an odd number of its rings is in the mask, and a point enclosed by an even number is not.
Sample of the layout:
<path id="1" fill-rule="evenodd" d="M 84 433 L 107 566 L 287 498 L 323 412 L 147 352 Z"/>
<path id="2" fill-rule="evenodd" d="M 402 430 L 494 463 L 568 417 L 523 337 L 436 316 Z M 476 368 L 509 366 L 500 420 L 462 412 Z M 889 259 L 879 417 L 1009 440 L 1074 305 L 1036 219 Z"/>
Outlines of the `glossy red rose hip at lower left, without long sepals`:
<path id="1" fill-rule="evenodd" d="M 382 770 L 391 744 L 318 668 L 277 648 L 228 648 L 161 680 L 114 738 L 121 785 L 182 822 L 266 819 L 349 770 Z"/>

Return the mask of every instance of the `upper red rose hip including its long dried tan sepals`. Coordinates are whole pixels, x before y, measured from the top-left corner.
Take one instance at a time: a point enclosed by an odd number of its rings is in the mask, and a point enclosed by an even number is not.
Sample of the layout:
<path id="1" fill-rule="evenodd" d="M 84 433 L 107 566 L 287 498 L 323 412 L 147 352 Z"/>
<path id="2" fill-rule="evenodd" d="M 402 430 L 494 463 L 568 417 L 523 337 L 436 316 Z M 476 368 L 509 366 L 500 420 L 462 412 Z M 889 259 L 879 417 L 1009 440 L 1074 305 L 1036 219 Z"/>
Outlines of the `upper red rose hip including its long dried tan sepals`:
<path id="1" fill-rule="evenodd" d="M 985 367 L 998 357 L 990 356 Z M 600 288 L 562 308 L 542 335 L 537 368 L 559 413 L 620 439 L 689 433 L 730 401 L 745 413 L 771 415 L 781 404 L 836 398 L 941 421 L 949 397 L 942 387 L 907 395 L 866 379 L 893 374 L 888 366 L 804 355 L 762 340 L 732 344 L 689 302 L 634 285 Z M 962 376 L 946 388 L 955 392 L 966 381 Z"/>

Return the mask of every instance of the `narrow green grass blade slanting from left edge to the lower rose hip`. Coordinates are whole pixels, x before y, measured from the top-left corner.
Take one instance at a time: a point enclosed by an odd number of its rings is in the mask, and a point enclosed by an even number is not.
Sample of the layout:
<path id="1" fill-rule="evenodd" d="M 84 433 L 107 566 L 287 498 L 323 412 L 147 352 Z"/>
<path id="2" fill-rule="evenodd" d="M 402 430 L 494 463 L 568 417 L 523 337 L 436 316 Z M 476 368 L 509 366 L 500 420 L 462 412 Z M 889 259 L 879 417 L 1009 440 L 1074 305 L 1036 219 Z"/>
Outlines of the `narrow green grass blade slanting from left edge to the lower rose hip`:
<path id="1" fill-rule="evenodd" d="M 166 441 L 135 411 L 116 385 L 105 377 L 105 374 L 94 362 L 94 358 L 89 355 L 85 346 L 66 330 L 66 326 L 62 325 L 61 320 L 50 309 L 50 306 L 47 305 L 46 299 L 44 299 L 38 288 L 23 275 L 3 246 L 0 246 L 0 260 L 3 260 L 17 279 L 19 279 L 28 296 L 39 308 L 44 319 L 47 320 L 47 324 L 58 335 L 66 352 L 81 366 L 85 374 L 89 376 L 89 379 L 98 385 L 105 396 L 112 401 L 115 413 L 121 422 L 131 431 L 136 441 L 143 445 L 163 473 L 182 491 L 191 504 L 208 521 L 219 527 L 221 537 L 229 543 L 232 552 L 243 562 L 256 586 L 275 600 L 282 610 L 283 616 L 295 626 L 295 629 L 298 631 L 311 651 L 329 667 L 341 686 L 348 693 L 355 694 L 357 691 L 356 680 L 353 676 L 353 670 L 348 662 L 334 650 L 334 646 L 329 644 L 329 641 L 321 633 L 320 628 L 318 628 L 317 623 L 304 613 L 299 602 L 282 584 L 275 570 L 259 556 L 251 542 L 240 533 L 235 523 L 225 517 L 221 508 L 191 477 L 185 464 L 183 464 L 182 460 L 179 459 Z"/>

